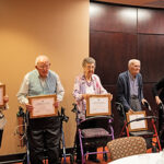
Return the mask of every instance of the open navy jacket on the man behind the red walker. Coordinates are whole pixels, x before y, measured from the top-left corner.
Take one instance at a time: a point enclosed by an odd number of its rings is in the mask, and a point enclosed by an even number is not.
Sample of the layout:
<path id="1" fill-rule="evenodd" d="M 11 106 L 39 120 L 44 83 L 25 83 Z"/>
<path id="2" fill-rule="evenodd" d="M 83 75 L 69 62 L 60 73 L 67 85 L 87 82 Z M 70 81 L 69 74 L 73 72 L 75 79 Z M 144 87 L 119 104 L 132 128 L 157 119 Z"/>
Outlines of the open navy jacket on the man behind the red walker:
<path id="1" fill-rule="evenodd" d="M 137 74 L 138 84 L 139 84 L 139 101 L 143 98 L 143 84 L 142 84 L 142 75 L 140 73 Z M 119 74 L 117 80 L 117 102 L 121 103 L 125 112 L 127 113 L 130 107 L 130 84 L 129 84 L 129 75 L 128 71 Z"/>

